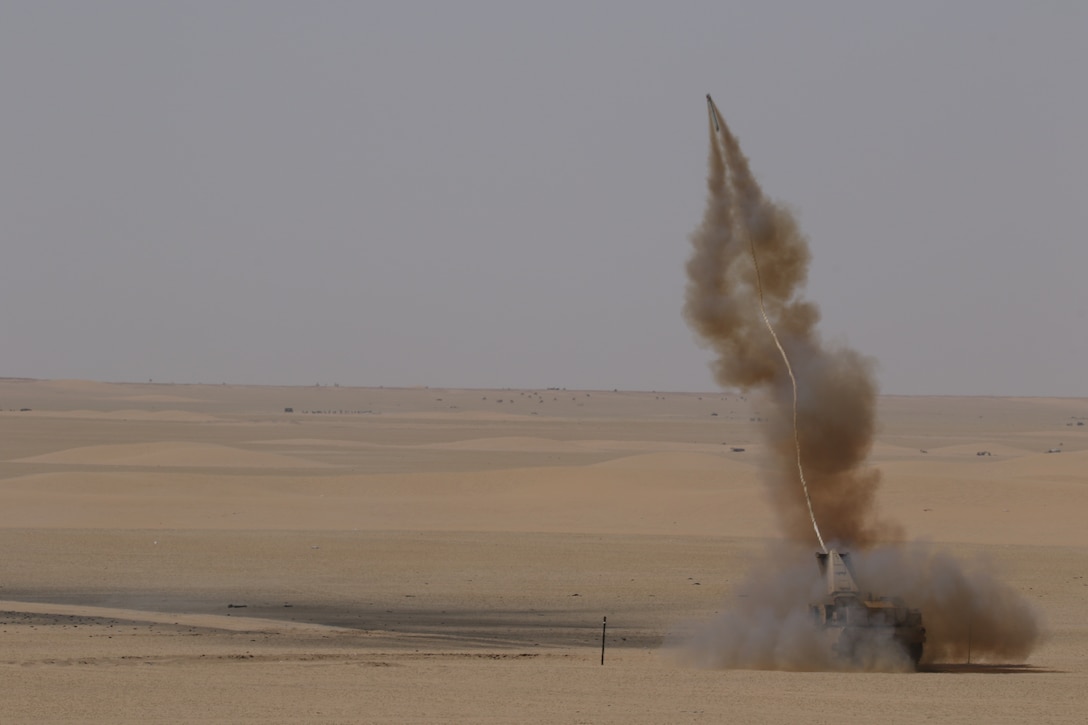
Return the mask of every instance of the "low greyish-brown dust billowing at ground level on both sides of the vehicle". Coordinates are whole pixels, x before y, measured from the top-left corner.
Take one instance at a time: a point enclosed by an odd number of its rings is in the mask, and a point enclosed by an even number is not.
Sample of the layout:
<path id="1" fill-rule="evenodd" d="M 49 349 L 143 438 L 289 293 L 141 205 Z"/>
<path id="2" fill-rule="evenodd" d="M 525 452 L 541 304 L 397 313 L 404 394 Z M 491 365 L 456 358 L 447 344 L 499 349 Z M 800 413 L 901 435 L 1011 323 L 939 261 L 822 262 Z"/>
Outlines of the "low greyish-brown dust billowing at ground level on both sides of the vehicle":
<path id="1" fill-rule="evenodd" d="M 960 561 L 929 544 L 878 544 L 851 553 L 857 580 L 874 593 L 899 597 L 922 611 L 923 663 L 1023 662 L 1042 637 L 1035 607 L 985 560 Z M 735 600 L 714 619 L 669 643 L 702 667 L 787 671 L 910 672 L 907 653 L 888 630 L 873 629 L 846 660 L 837 656 L 808 603 L 825 582 L 811 549 L 772 546 L 752 562 Z"/>

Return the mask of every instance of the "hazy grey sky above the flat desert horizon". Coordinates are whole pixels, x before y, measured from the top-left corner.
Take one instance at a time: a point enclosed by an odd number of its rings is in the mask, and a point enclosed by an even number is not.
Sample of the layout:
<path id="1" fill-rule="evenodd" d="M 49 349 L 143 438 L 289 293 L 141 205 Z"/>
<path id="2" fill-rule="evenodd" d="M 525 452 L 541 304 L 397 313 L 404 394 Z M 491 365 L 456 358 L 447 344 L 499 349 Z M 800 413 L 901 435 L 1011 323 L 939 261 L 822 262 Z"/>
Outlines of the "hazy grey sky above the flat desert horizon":
<path id="1" fill-rule="evenodd" d="M 710 93 L 882 392 L 1085 396 L 1086 37 L 1076 0 L 4 0 L 0 376 L 714 390 Z"/>

